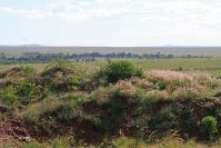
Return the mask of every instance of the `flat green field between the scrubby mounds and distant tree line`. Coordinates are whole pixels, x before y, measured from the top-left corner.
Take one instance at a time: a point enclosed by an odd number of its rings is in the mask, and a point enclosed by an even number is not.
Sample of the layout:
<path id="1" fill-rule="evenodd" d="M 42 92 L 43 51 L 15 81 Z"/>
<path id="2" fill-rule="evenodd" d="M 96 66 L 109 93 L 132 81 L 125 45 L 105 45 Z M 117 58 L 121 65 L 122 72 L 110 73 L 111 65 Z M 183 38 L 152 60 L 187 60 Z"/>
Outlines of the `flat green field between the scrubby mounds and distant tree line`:
<path id="1" fill-rule="evenodd" d="M 150 60 L 132 60 L 137 62 L 143 70 L 178 70 L 182 68 L 184 71 L 205 71 L 214 76 L 221 76 L 221 58 L 175 58 L 175 59 L 150 59 Z M 94 62 L 73 62 L 78 68 L 93 71 L 96 67 L 106 65 L 106 60 Z M 7 70 L 20 65 L 0 65 L 1 70 Z M 29 63 L 42 71 L 47 63 Z"/>

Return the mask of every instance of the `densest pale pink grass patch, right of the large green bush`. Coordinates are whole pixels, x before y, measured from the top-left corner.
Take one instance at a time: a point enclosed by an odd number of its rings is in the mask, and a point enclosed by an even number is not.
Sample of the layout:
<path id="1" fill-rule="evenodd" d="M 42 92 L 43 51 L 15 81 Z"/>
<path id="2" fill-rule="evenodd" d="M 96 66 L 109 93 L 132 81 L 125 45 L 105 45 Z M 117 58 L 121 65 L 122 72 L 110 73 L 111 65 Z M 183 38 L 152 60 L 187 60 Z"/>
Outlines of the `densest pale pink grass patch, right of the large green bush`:
<path id="1" fill-rule="evenodd" d="M 159 89 L 167 89 L 170 92 L 180 88 L 215 88 L 221 81 L 204 72 L 179 72 L 179 71 L 148 71 L 147 78 L 154 82 Z"/>

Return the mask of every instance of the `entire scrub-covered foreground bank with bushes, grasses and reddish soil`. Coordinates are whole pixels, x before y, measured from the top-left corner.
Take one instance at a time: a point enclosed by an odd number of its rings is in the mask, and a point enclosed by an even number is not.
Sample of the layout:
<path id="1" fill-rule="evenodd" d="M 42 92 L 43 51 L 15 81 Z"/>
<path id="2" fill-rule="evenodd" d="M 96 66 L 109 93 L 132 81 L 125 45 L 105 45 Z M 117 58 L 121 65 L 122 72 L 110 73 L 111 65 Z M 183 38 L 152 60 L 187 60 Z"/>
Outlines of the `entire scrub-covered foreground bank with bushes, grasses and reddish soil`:
<path id="1" fill-rule="evenodd" d="M 6 147 L 219 145 L 221 80 L 207 72 L 143 71 L 130 61 L 110 61 L 88 73 L 57 60 L 43 71 L 19 67 L 1 73 Z M 1 141 L 1 135 L 9 138 Z"/>

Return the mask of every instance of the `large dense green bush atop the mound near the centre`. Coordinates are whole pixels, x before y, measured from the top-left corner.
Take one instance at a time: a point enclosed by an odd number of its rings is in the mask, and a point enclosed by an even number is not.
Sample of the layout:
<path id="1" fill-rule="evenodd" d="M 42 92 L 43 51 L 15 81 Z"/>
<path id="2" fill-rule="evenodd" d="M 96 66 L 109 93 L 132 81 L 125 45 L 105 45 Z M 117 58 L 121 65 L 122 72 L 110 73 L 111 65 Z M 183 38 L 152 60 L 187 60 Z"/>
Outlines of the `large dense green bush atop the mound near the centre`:
<path id="1" fill-rule="evenodd" d="M 143 77 L 143 71 L 130 61 L 110 61 L 101 71 L 99 73 L 107 82 L 117 82 L 131 77 Z"/>

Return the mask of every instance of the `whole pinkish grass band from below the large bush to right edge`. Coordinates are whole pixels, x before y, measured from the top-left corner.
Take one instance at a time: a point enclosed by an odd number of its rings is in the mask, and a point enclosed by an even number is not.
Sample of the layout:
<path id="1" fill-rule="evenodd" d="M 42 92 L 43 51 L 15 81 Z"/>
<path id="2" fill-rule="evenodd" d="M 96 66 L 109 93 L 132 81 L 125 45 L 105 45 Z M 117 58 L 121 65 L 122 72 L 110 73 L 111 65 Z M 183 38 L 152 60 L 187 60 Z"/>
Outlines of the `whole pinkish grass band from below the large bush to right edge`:
<path id="1" fill-rule="evenodd" d="M 194 99 L 203 92 L 221 87 L 221 81 L 209 73 L 179 71 L 148 71 L 145 78 L 119 80 L 117 83 L 97 90 L 102 100 L 117 95 L 119 98 L 139 98 L 140 100 Z M 98 98 L 97 97 L 97 98 Z"/>

